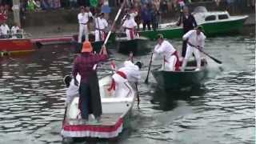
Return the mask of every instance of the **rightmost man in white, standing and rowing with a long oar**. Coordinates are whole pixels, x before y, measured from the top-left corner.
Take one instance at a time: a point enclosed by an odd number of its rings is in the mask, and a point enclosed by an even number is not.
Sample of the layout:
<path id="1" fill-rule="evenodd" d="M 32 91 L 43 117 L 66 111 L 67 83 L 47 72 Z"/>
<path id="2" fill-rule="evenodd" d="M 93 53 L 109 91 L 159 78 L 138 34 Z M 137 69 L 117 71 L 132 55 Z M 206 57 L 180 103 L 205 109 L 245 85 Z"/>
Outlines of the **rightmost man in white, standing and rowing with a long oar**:
<path id="1" fill-rule="evenodd" d="M 197 69 L 200 70 L 201 67 L 201 56 L 200 49 L 205 45 L 205 34 L 202 33 L 202 26 L 197 26 L 196 30 L 190 30 L 185 35 L 183 35 L 183 41 L 187 41 L 186 56 L 182 61 L 182 71 L 185 70 L 186 62 L 193 53 L 197 60 Z"/>

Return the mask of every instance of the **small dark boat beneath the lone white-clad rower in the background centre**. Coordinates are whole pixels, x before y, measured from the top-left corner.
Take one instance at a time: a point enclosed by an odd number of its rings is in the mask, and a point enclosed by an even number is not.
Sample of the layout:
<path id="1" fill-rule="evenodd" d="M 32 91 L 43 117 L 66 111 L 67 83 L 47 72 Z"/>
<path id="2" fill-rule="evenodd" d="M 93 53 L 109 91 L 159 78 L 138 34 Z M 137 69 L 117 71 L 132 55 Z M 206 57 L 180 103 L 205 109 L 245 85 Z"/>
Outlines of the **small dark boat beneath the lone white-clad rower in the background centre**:
<path id="1" fill-rule="evenodd" d="M 132 40 L 127 40 L 125 38 L 116 38 L 116 48 L 119 53 L 122 54 L 145 54 L 150 51 L 149 46 L 147 46 L 149 42 L 148 38 L 139 37 L 134 38 Z"/>

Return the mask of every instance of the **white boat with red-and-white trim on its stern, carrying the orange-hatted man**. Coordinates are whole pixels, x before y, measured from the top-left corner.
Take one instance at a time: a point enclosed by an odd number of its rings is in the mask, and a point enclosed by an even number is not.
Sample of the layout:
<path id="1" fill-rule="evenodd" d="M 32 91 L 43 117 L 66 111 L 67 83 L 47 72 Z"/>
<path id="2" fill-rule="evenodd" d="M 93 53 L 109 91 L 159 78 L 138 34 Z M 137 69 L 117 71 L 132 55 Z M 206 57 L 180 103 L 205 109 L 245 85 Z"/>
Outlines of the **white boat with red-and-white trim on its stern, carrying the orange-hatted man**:
<path id="1" fill-rule="evenodd" d="M 102 100 L 101 122 L 81 123 L 78 110 L 78 97 L 74 98 L 66 111 L 66 118 L 62 126 L 63 138 L 116 138 L 125 127 L 134 105 L 136 91 L 127 83 L 130 91 L 118 93 L 118 97 L 110 94 L 112 78 L 110 76 L 99 80 L 99 88 Z"/>

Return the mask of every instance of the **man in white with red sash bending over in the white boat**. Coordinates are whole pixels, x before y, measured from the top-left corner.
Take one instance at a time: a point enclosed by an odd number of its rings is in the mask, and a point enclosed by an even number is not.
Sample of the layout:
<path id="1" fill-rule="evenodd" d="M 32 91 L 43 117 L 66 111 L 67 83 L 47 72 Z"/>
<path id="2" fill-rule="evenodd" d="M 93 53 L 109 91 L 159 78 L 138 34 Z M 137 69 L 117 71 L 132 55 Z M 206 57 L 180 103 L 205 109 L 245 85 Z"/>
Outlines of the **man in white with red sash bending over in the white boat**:
<path id="1" fill-rule="evenodd" d="M 113 62 L 111 65 L 114 65 Z M 114 96 L 127 96 L 130 93 L 130 89 L 135 90 L 135 86 L 138 83 L 138 80 L 141 78 L 140 69 L 142 68 L 141 62 L 136 62 L 135 64 L 130 60 L 123 63 L 123 67 L 118 69 L 115 74 L 113 74 L 112 83 L 109 91 L 114 90 Z M 114 66 L 115 67 L 115 66 Z M 130 82 L 131 86 L 127 85 L 127 82 Z"/>

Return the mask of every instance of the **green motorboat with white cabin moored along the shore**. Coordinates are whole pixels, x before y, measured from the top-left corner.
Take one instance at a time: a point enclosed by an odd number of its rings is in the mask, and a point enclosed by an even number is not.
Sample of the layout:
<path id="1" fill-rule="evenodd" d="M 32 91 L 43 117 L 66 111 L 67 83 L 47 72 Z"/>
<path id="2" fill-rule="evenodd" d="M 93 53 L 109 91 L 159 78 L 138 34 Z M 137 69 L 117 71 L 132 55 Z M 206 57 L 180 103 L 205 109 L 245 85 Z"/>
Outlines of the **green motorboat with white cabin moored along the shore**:
<path id="1" fill-rule="evenodd" d="M 198 25 L 203 26 L 207 37 L 218 34 L 237 33 L 242 30 L 243 24 L 248 18 L 244 16 L 230 16 L 227 11 L 208 12 L 205 7 L 198 6 L 194 10 L 194 18 Z M 158 30 L 139 31 L 139 34 L 150 39 L 155 39 L 157 34 L 163 34 L 165 38 L 182 38 L 182 26 L 175 26 L 175 22 L 160 25 Z"/>

